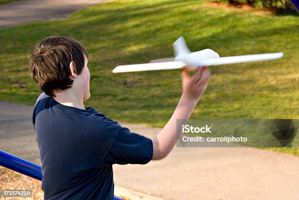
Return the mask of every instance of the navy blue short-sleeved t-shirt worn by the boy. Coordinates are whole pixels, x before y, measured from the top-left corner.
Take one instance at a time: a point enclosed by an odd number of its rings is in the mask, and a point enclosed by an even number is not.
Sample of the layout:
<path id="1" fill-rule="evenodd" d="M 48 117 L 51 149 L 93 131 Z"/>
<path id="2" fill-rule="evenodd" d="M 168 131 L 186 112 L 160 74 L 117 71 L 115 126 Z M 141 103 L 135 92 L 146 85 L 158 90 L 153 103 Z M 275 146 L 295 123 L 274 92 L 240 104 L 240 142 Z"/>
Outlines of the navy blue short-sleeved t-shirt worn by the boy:
<path id="1" fill-rule="evenodd" d="M 46 96 L 36 103 L 33 124 L 44 199 L 113 199 L 112 164 L 145 164 L 152 158 L 150 139 L 93 107 L 83 110 Z"/>

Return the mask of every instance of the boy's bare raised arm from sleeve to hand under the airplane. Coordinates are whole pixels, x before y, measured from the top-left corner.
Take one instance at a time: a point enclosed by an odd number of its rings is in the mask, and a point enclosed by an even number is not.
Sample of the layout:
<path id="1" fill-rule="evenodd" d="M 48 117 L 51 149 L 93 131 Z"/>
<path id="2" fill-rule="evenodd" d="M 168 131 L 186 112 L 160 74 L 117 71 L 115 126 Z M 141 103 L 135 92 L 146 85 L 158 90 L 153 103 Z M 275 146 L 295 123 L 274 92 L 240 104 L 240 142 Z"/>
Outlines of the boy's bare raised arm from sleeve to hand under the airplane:
<path id="1" fill-rule="evenodd" d="M 199 98 L 207 88 L 211 77 L 208 67 L 198 67 L 192 77 L 188 75 L 188 70 L 181 72 L 183 93 L 179 100 L 171 119 L 164 128 L 152 140 L 153 156 L 152 160 L 159 160 L 169 154 L 177 140 L 176 120 L 189 119 Z"/>

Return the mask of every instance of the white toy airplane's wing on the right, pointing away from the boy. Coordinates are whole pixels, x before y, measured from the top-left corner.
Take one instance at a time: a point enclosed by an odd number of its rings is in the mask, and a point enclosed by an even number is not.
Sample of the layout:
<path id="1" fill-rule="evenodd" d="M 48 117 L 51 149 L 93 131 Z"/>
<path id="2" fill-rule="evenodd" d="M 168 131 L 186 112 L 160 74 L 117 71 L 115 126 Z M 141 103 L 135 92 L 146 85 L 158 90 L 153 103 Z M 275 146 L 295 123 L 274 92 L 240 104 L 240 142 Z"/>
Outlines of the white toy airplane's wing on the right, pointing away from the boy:
<path id="1" fill-rule="evenodd" d="M 242 62 L 254 62 L 254 61 L 263 61 L 263 60 L 275 60 L 275 59 L 280 59 L 282 56 L 283 56 L 283 52 L 270 53 L 270 54 L 220 57 L 216 59 L 200 60 L 198 63 L 198 67 L 214 66 L 214 65 L 221 65 L 221 64 L 235 64 L 235 63 L 242 63 Z"/>

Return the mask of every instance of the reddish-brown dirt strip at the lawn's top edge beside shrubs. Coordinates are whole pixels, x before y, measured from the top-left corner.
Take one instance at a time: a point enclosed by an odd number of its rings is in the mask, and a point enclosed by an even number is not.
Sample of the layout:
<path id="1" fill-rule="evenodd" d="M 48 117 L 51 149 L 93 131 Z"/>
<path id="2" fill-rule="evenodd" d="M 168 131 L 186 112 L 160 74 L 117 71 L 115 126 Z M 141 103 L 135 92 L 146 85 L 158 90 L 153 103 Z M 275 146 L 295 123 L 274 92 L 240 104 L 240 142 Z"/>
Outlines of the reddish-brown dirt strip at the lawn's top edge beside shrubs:
<path id="1" fill-rule="evenodd" d="M 274 10 L 266 10 L 266 9 L 257 9 L 248 4 L 245 5 L 232 5 L 230 3 L 219 3 L 219 2 L 204 2 L 201 4 L 202 6 L 210 6 L 210 7 L 220 7 L 226 10 L 235 10 L 235 11 L 248 11 L 252 12 L 256 15 L 261 16 L 274 16 Z"/>

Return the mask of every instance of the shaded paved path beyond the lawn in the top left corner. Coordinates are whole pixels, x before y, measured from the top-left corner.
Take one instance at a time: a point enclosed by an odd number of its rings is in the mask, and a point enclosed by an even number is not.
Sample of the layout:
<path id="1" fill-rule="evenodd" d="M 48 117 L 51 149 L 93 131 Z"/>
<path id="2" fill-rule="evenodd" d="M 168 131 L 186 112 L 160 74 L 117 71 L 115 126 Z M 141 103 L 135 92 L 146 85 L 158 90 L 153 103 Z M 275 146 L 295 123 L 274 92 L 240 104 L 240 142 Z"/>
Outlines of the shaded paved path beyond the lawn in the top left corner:
<path id="1" fill-rule="evenodd" d="M 67 18 L 72 12 L 107 0 L 21 0 L 0 5 L 0 27 Z"/>

